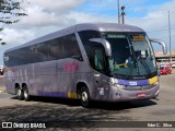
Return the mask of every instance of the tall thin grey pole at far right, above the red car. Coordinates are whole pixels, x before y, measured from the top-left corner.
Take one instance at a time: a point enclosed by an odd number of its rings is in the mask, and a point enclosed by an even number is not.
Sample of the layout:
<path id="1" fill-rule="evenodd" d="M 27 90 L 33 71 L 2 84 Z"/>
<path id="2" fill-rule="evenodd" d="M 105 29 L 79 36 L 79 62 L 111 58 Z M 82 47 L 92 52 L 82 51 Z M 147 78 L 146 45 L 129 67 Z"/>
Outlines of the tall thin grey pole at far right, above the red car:
<path id="1" fill-rule="evenodd" d="M 167 13 L 168 13 L 168 38 L 170 38 L 170 63 L 172 63 L 171 12 L 167 11 Z"/>

